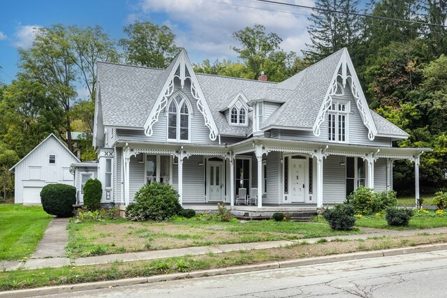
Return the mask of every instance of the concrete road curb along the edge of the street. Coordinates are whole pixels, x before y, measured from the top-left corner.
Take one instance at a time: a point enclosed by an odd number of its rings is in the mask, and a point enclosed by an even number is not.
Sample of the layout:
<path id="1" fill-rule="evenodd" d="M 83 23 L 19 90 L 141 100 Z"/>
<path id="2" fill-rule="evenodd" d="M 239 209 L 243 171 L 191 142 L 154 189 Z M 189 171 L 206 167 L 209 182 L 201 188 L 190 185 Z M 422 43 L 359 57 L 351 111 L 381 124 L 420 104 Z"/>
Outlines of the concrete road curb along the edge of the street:
<path id="1" fill-rule="evenodd" d="M 186 278 L 199 278 L 206 276 L 219 276 L 226 274 L 237 274 L 237 273 L 247 273 L 254 271 L 263 271 L 279 268 L 291 268 L 300 267 L 308 265 L 318 265 L 332 262 L 343 262 L 350 260 L 360 260 L 367 258 L 383 258 L 393 255 L 407 255 L 411 253 L 427 253 L 430 251 L 443 251 L 447 250 L 447 243 L 445 244 L 430 244 L 424 246 L 414 246 L 414 247 L 404 247 L 404 248 L 390 248 L 382 251 L 367 251 L 360 253 L 344 253 L 341 255 L 328 255 L 324 257 L 317 258 L 307 258 L 298 260 L 287 260 L 280 262 L 269 262 L 265 264 L 258 265 L 246 265 L 240 267 L 227 267 L 219 269 L 209 269 L 202 271 L 193 271 L 186 273 L 176 273 L 176 274 L 166 274 L 157 275 L 149 277 L 139 277 L 139 278 L 125 278 L 117 281 L 98 281 L 94 283 L 78 283 L 75 285 L 54 285 L 45 288 L 34 288 L 27 290 L 13 290 L 0 292 L 0 297 L 8 298 L 22 298 L 22 297 L 33 297 L 40 295 L 52 295 L 64 292 L 78 292 L 85 290 L 98 290 L 105 288 L 119 287 L 123 285 L 138 285 L 143 283 L 158 283 L 160 281 L 175 281 L 178 279 Z"/>

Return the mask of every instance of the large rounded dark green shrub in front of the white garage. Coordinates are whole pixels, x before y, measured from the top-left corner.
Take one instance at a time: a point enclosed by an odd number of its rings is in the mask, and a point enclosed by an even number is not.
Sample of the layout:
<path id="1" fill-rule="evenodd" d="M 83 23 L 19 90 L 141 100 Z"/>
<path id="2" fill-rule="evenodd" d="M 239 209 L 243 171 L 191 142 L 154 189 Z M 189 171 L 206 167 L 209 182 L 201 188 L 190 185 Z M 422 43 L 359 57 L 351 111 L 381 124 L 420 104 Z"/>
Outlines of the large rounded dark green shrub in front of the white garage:
<path id="1" fill-rule="evenodd" d="M 76 188 L 67 184 L 48 184 L 42 188 L 41 202 L 47 214 L 71 217 L 73 204 L 76 204 Z"/>

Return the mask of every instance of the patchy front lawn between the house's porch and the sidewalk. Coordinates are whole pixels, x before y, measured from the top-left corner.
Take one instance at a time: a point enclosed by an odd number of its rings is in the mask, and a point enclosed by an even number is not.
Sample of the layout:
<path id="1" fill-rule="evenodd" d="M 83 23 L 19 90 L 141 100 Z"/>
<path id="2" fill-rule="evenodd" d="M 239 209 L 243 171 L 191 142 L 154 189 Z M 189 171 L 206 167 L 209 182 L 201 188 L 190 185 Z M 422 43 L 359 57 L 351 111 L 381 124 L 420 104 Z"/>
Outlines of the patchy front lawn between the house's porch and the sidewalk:
<path id="1" fill-rule="evenodd" d="M 118 218 L 104 222 L 71 222 L 68 225 L 69 257 L 152 251 L 190 246 L 210 246 L 257 241 L 305 239 L 342 234 L 359 234 L 332 231 L 328 225 L 296 223 L 292 221 L 230 221 L 188 220 L 163 222 L 132 222 Z"/>

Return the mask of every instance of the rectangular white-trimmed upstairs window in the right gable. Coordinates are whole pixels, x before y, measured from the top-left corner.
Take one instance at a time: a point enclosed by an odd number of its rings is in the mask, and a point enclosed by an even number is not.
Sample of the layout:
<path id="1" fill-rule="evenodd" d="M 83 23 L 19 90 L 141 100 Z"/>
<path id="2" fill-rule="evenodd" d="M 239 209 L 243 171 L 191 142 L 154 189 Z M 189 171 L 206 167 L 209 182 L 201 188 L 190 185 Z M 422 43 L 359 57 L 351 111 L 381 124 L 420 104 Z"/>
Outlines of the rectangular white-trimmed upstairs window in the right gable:
<path id="1" fill-rule="evenodd" d="M 330 142 L 348 142 L 349 103 L 332 100 L 328 112 L 328 140 Z"/>

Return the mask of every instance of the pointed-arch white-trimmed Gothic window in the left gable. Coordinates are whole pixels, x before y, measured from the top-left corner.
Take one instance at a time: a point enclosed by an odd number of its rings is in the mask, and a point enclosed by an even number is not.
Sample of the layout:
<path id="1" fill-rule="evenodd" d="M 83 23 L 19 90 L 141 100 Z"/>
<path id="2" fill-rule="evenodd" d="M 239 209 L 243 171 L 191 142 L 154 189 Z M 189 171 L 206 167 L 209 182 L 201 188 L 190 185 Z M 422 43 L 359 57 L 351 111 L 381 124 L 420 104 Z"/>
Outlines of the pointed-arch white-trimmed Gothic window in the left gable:
<path id="1" fill-rule="evenodd" d="M 168 140 L 189 141 L 191 107 L 187 98 L 178 94 L 168 105 Z"/>

